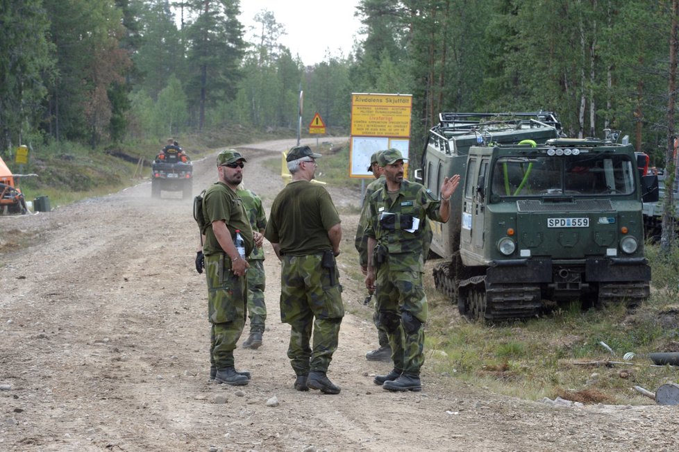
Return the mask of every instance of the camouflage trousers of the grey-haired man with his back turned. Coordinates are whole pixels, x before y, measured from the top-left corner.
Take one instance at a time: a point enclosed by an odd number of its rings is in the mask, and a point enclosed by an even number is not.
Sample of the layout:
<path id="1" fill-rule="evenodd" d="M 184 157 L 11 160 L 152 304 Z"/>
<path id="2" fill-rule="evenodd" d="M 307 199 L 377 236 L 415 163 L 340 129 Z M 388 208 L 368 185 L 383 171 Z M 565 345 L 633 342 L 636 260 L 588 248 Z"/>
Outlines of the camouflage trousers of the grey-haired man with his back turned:
<path id="1" fill-rule="evenodd" d="M 280 319 L 291 326 L 287 357 L 296 375 L 327 371 L 340 337 L 344 317 L 340 275 L 337 266 L 321 268 L 321 257 L 283 256 Z"/>

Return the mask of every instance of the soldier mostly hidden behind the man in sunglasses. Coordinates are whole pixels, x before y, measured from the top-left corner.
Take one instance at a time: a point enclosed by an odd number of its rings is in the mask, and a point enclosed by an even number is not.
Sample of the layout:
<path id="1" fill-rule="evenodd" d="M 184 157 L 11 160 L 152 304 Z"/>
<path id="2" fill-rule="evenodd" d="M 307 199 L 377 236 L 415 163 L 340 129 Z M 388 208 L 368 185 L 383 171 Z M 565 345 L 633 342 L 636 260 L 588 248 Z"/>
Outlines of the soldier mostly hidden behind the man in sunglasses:
<path id="1" fill-rule="evenodd" d="M 236 190 L 236 194 L 243 202 L 255 239 L 255 248 L 250 253 L 250 256 L 248 256 L 250 268 L 247 272 L 250 335 L 243 342 L 242 347 L 244 349 L 258 349 L 262 346 L 262 334 L 264 334 L 265 321 L 267 319 L 267 305 L 264 302 L 264 290 L 267 280 L 264 272 L 264 249 L 262 249 L 264 231 L 267 227 L 267 217 L 262 207 L 262 199 L 252 190 L 246 189 L 241 184 L 238 190 Z"/>

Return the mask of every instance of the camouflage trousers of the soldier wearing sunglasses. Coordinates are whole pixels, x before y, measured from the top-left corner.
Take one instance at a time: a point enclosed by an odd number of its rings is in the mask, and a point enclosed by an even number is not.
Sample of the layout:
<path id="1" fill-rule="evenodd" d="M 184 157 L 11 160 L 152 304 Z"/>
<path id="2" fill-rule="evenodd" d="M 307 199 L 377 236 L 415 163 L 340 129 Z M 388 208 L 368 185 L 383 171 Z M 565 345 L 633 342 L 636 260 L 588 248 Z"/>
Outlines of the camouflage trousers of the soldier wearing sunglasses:
<path id="1" fill-rule="evenodd" d="M 243 333 L 247 278 L 235 276 L 224 254 L 205 256 L 210 324 L 210 364 L 217 369 L 233 367 L 233 349 Z"/>

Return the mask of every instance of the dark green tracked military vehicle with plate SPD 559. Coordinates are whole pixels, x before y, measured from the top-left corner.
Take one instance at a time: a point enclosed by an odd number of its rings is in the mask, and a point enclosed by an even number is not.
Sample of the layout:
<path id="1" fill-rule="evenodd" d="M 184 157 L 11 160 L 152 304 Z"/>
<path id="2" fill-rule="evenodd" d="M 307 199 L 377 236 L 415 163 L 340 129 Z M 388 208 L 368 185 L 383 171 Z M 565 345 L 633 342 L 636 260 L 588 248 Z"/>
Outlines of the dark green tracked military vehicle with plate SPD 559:
<path id="1" fill-rule="evenodd" d="M 444 176 L 461 176 L 431 249 L 446 259 L 437 288 L 462 315 L 497 321 L 648 297 L 642 192 L 657 199 L 657 178 L 642 177 L 618 137 L 564 138 L 552 112 L 442 113 L 421 176 L 435 194 Z"/>

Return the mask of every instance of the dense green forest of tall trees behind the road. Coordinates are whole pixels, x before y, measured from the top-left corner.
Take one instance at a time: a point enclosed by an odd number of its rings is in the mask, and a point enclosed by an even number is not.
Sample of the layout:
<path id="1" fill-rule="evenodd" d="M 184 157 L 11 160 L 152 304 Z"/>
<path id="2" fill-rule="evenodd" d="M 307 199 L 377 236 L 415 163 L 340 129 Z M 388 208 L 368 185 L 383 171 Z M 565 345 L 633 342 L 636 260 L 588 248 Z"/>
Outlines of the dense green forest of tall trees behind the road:
<path id="1" fill-rule="evenodd" d="M 412 94 L 414 162 L 439 112 L 542 109 L 664 166 L 676 1 L 362 0 L 364 39 L 305 65 L 267 10 L 246 41 L 238 0 L 0 0 L 0 155 L 294 133 L 303 90 L 303 126 L 319 112 L 334 134 L 351 92 Z"/>

